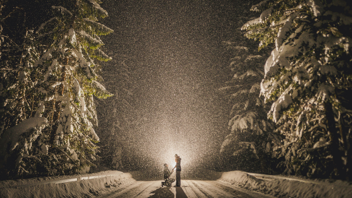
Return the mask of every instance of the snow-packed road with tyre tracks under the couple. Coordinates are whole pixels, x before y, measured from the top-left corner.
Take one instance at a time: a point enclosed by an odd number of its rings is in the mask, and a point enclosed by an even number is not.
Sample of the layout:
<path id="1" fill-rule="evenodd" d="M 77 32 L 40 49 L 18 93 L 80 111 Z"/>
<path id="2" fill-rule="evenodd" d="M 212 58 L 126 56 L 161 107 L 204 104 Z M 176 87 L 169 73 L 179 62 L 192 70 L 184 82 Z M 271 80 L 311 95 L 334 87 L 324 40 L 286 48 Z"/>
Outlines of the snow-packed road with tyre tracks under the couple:
<path id="1" fill-rule="evenodd" d="M 175 183 L 174 183 L 175 184 Z M 121 186 L 98 197 L 272 197 L 247 191 L 221 181 L 181 180 L 181 187 L 161 187 L 161 181 L 136 181 Z"/>

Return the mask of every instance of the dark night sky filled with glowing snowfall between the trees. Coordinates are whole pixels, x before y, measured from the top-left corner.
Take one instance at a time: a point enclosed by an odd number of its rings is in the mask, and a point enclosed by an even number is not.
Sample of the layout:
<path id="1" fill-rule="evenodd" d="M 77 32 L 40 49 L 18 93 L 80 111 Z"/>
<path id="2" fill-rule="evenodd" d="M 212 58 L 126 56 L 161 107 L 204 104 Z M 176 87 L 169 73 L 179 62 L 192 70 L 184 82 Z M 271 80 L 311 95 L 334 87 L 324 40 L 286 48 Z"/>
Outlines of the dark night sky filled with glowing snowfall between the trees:
<path id="1" fill-rule="evenodd" d="M 141 155 L 164 163 L 174 153 L 198 159 L 216 152 L 225 135 L 229 107 L 216 89 L 229 76 L 222 41 L 233 40 L 236 1 L 104 1 L 102 23 L 114 33 L 102 39 L 110 54 L 125 54 L 134 68 L 133 134 Z M 106 79 L 106 81 L 113 79 Z M 109 87 L 107 87 L 109 89 Z M 171 155 L 171 156 L 170 156 Z"/>

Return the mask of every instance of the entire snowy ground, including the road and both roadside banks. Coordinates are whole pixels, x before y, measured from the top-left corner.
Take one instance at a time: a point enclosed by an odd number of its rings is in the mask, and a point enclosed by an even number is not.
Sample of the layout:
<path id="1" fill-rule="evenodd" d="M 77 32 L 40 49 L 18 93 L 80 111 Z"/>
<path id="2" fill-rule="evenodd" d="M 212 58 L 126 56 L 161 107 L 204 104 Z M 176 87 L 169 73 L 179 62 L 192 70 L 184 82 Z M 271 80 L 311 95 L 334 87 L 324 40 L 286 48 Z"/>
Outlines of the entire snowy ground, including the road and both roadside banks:
<path id="1" fill-rule="evenodd" d="M 142 172 L 99 173 L 0 181 L 0 197 L 334 197 L 347 198 L 352 183 L 332 179 L 305 179 L 294 176 L 262 175 L 231 171 L 203 171 L 204 180 L 187 180 L 181 187 L 161 187 L 161 178 L 146 181 Z M 120 174 L 120 175 L 117 175 Z M 252 175 L 256 175 L 256 177 Z M 108 176 L 105 175 L 115 175 Z M 133 176 L 132 176 L 133 175 Z M 219 176 L 221 177 L 219 178 Z M 97 178 L 97 177 L 102 178 Z M 94 178 L 94 179 L 88 179 Z M 276 179 L 273 179 L 276 177 Z M 286 178 L 286 179 L 284 179 Z M 140 181 L 137 181 L 137 180 Z M 193 178 L 196 179 L 196 178 Z M 217 179 L 217 180 L 216 180 Z M 60 183 L 62 180 L 72 182 Z M 56 182 L 58 184 L 55 184 Z M 40 183 L 40 184 L 38 184 Z M 174 183 L 175 184 L 175 183 Z"/>

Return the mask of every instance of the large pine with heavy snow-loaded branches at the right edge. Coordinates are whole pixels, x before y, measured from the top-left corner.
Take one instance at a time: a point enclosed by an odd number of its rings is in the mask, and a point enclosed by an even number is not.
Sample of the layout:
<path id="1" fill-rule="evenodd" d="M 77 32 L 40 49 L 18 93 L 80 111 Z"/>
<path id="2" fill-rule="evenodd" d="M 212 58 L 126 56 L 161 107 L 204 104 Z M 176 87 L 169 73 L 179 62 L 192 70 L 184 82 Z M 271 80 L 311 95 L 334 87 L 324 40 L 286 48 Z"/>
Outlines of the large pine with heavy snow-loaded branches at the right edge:
<path id="1" fill-rule="evenodd" d="M 351 178 L 351 1 L 265 0 L 252 11 L 262 14 L 246 37 L 275 44 L 261 94 L 285 136 L 287 171 Z"/>

